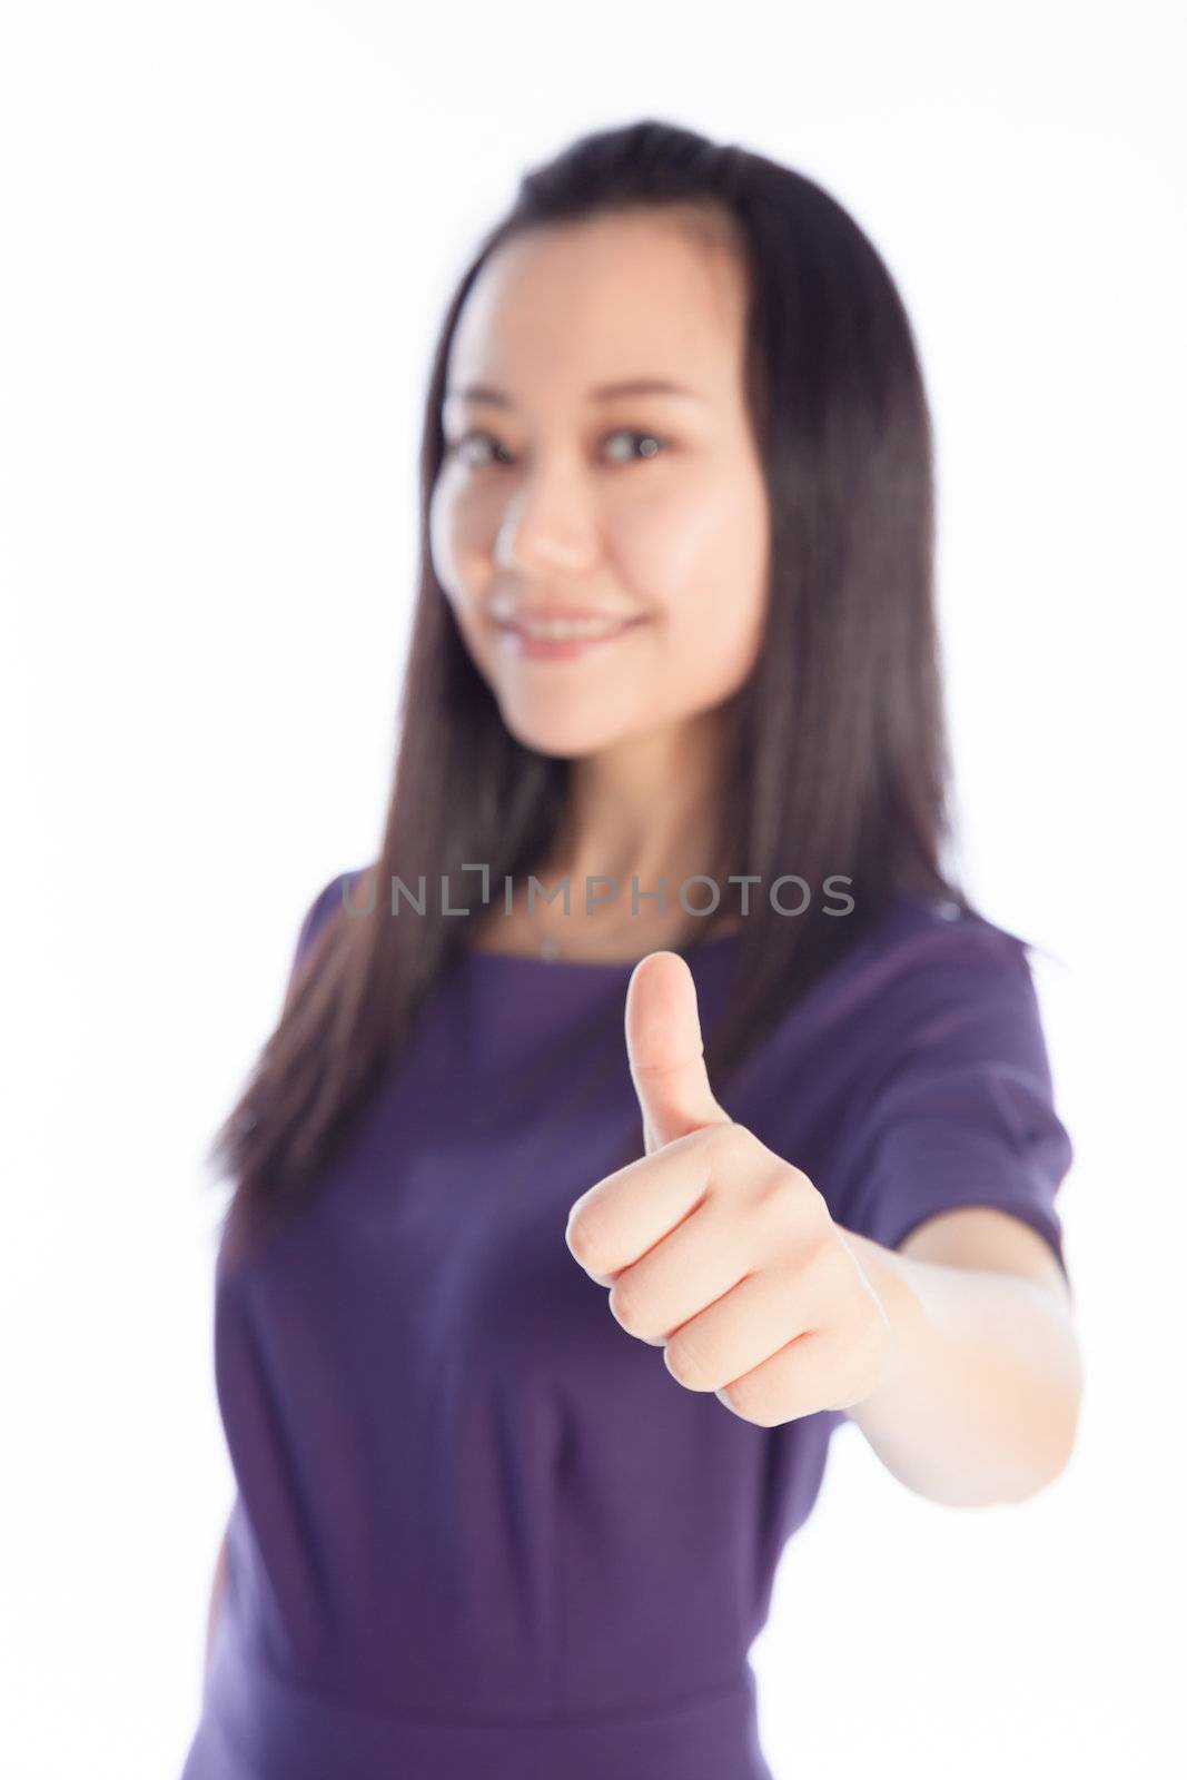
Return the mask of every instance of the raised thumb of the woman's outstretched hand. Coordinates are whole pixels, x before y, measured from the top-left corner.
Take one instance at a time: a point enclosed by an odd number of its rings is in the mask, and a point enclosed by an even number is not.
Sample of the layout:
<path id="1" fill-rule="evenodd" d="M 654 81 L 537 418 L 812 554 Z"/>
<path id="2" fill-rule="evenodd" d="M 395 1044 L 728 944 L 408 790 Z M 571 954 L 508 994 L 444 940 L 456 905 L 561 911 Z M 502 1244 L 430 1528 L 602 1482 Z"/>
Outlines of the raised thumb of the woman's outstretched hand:
<path id="1" fill-rule="evenodd" d="M 676 952 L 648 952 L 630 975 L 626 1057 L 648 1155 L 703 1125 L 733 1123 L 708 1086 L 696 981 Z"/>

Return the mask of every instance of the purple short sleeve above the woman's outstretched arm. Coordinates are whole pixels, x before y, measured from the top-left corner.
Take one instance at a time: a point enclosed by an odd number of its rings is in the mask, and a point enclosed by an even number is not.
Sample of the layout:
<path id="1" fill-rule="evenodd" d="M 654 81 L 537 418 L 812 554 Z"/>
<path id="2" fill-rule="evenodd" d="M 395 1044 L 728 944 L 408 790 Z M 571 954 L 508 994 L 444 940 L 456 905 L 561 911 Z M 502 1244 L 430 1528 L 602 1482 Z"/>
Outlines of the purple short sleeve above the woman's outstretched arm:
<path id="1" fill-rule="evenodd" d="M 884 997 L 877 1084 L 845 1136 L 840 1221 L 897 1248 L 936 1212 L 989 1205 L 1038 1230 L 1068 1278 L 1055 1198 L 1073 1146 L 1021 942 L 952 931 Z"/>

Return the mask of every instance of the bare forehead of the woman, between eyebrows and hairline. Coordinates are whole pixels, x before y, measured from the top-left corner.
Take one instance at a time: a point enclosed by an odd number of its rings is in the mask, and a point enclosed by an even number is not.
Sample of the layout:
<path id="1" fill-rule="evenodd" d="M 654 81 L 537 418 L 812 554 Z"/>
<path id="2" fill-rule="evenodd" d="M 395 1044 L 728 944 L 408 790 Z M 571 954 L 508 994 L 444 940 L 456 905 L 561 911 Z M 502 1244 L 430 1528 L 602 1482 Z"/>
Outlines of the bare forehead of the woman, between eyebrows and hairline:
<path id="1" fill-rule="evenodd" d="M 582 399 L 614 377 L 737 390 L 746 283 L 728 217 L 646 210 L 504 242 L 457 317 L 448 384 Z"/>

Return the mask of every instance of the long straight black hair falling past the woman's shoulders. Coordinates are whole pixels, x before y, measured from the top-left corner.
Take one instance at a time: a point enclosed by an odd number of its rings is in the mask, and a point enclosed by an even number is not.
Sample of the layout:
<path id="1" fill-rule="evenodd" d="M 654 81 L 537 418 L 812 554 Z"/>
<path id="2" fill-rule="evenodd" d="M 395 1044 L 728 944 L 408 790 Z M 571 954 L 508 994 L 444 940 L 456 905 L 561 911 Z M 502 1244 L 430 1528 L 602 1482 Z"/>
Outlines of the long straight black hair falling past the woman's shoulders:
<path id="1" fill-rule="evenodd" d="M 714 1089 L 900 895 L 975 913 L 945 876 L 950 760 L 934 614 L 933 433 L 911 326 L 879 253 L 820 185 L 735 144 L 644 119 L 585 135 L 520 182 L 445 313 L 420 447 L 420 587 L 379 858 L 294 974 L 276 1031 L 210 1159 L 235 1178 L 240 1237 L 301 1205 L 352 1116 L 399 1057 L 425 997 L 504 876 L 550 856 L 569 762 L 509 733 L 434 575 L 429 506 L 461 306 L 489 255 L 523 230 L 676 206 L 726 221 L 747 283 L 746 406 L 769 514 L 762 650 L 723 716 L 717 856 L 758 878 L 733 997 L 707 1034 Z M 390 915 L 390 885 L 425 874 L 427 911 Z M 790 918 L 767 886 L 795 872 Z M 852 911 L 820 895 L 842 879 Z M 432 894 L 447 886 L 447 901 Z M 840 894 L 840 892 L 838 892 Z M 699 901 L 699 897 L 698 897 Z M 719 917 L 728 913 L 723 902 Z M 699 934 L 708 936 L 714 918 Z M 644 1148 L 642 1129 L 634 1148 Z M 628 1157 L 625 1157 L 626 1161 Z"/>

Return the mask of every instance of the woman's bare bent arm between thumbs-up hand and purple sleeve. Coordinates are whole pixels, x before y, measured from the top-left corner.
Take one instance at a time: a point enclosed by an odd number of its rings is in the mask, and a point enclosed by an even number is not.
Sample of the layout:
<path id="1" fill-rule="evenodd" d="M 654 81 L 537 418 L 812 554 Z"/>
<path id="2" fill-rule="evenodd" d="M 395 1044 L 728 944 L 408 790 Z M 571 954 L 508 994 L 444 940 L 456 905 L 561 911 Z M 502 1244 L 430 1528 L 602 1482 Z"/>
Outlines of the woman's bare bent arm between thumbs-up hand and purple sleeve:
<path id="1" fill-rule="evenodd" d="M 1070 1303 L 1021 1274 L 845 1241 L 892 1326 L 876 1390 L 845 1413 L 886 1468 L 954 1508 L 1025 1501 L 1057 1477 L 1080 1410 Z"/>

